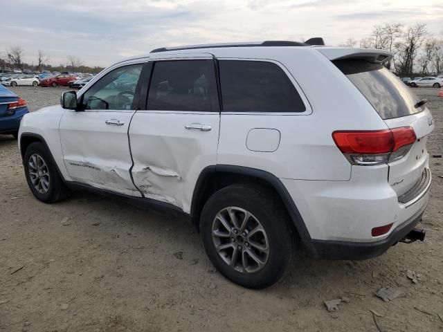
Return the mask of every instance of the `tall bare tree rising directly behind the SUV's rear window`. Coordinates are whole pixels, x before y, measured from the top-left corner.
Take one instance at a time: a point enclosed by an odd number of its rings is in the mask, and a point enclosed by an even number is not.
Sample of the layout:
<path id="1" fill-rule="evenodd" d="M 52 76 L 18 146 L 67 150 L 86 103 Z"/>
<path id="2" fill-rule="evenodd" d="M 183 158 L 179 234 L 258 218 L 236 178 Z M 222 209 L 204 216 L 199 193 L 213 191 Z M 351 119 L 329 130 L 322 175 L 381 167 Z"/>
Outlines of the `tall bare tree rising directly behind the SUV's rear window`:
<path id="1" fill-rule="evenodd" d="M 394 65 L 400 77 L 413 76 L 415 59 L 426 35 L 426 24 L 415 24 L 403 33 L 399 42 L 395 43 L 397 52 Z"/>

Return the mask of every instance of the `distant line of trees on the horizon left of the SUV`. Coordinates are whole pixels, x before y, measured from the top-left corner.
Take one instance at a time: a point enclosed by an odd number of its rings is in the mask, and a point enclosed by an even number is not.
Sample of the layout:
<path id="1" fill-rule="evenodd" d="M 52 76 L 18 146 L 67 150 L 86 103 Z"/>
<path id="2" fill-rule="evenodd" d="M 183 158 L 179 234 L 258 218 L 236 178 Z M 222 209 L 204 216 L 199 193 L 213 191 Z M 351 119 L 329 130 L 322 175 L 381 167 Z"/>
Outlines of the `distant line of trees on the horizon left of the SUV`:
<path id="1" fill-rule="evenodd" d="M 19 46 L 10 46 L 6 48 L 5 54 L 0 53 L 0 69 L 5 70 L 5 68 L 29 69 L 30 71 L 78 71 L 80 73 L 99 73 L 102 71 L 103 67 L 94 66 L 84 66 L 83 60 L 75 55 L 68 55 L 66 58 L 66 64 L 60 64 L 59 66 L 52 66 L 48 62 L 51 57 L 46 54 L 43 50 L 37 51 L 37 56 L 35 57 L 35 63 L 27 64 L 23 60 L 24 49 Z"/>

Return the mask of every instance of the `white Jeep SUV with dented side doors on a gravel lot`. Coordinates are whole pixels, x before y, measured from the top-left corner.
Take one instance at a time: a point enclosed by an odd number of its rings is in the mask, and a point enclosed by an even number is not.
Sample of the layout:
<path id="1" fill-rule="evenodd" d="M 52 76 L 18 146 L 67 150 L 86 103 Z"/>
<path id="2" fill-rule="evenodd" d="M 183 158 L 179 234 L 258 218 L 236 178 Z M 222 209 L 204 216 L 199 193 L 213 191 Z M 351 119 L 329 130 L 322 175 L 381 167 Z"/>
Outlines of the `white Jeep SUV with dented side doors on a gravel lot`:
<path id="1" fill-rule="evenodd" d="M 386 51 L 309 44 L 160 48 L 110 66 L 24 117 L 30 190 L 183 212 L 217 270 L 250 288 L 300 250 L 367 259 L 422 240 L 426 100 L 382 65 Z"/>

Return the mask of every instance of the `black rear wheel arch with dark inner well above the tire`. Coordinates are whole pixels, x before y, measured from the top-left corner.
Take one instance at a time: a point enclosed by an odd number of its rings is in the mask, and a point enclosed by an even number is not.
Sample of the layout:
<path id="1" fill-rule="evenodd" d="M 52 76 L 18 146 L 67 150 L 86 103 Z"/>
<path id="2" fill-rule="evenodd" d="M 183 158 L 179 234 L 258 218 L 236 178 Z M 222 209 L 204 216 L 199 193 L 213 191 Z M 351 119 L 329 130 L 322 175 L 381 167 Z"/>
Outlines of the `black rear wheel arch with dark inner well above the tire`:
<path id="1" fill-rule="evenodd" d="M 273 190 L 286 208 L 289 219 L 292 221 L 291 227 L 296 231 L 300 240 L 305 245 L 310 242 L 311 237 L 305 222 L 282 181 L 277 176 L 261 169 L 235 165 L 213 165 L 201 171 L 192 194 L 190 209 L 192 223 L 197 229 L 199 228 L 201 210 L 213 193 L 227 185 L 245 182 L 260 184 Z"/>

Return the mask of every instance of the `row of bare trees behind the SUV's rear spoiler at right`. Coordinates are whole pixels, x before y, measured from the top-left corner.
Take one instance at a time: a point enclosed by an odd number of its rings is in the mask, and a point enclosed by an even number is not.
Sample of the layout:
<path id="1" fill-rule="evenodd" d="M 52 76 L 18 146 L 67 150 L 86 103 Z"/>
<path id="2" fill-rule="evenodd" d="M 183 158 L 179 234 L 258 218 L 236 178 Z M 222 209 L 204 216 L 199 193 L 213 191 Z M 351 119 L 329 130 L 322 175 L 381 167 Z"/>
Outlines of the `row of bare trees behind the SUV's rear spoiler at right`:
<path id="1" fill-rule="evenodd" d="M 385 66 L 399 77 L 443 73 L 443 36 L 428 33 L 426 24 L 377 25 L 368 37 L 360 41 L 350 38 L 341 46 L 389 50 L 394 57 Z"/>

